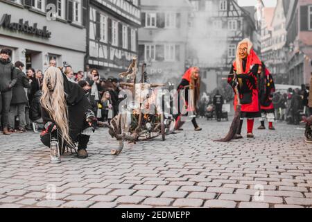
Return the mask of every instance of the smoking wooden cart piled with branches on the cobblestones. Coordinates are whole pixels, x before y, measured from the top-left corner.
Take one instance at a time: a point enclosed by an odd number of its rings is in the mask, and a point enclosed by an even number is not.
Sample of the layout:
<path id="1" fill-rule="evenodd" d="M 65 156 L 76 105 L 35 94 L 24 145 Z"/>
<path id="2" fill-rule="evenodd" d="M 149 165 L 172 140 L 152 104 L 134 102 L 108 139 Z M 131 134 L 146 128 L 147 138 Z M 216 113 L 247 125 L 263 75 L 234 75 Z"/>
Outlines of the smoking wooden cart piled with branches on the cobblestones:
<path id="1" fill-rule="evenodd" d="M 128 92 L 121 102 L 121 112 L 107 124 L 109 133 L 119 142 L 119 147 L 112 149 L 112 155 L 119 155 L 124 142 L 136 144 L 140 140 L 162 137 L 164 141 L 174 128 L 172 115 L 164 112 L 165 106 L 162 89 L 165 85 L 149 83 L 146 64 L 142 65 L 141 80 L 137 81 L 137 58 L 133 58 L 128 71 L 119 74 L 126 79 L 121 86 Z M 132 98 L 130 98 L 132 96 Z"/>

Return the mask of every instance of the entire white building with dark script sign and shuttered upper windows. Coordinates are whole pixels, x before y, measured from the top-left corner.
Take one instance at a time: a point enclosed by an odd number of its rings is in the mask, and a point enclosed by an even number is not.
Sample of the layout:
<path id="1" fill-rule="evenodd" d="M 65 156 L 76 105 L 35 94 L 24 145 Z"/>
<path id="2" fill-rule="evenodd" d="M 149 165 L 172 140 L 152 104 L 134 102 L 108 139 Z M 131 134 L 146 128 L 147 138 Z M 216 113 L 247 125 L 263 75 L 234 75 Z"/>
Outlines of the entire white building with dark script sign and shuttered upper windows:
<path id="1" fill-rule="evenodd" d="M 84 70 L 86 9 L 87 0 L 1 0 L 0 49 L 26 68 L 45 70 L 54 59 Z"/>

